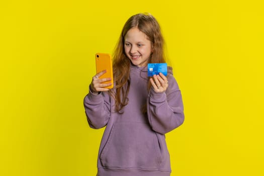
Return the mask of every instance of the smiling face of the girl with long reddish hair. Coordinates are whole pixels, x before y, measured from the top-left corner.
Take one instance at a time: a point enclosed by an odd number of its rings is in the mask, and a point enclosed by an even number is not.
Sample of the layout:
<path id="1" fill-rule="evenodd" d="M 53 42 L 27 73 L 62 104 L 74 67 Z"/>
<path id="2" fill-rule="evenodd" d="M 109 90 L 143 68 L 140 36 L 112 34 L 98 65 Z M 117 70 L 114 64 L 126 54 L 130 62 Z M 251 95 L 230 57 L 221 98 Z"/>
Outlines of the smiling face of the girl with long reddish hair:
<path id="1" fill-rule="evenodd" d="M 152 52 L 152 44 L 146 34 L 138 28 L 131 28 L 124 43 L 125 53 L 133 65 L 138 67 L 146 66 Z"/>

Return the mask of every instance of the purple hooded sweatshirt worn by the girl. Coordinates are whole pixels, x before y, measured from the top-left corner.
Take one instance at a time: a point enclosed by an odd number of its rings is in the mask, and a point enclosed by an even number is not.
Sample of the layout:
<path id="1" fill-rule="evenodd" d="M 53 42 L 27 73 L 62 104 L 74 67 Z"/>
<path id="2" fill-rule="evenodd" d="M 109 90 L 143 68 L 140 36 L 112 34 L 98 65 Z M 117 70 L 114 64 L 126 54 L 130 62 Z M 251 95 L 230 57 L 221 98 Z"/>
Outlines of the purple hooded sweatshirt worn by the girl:
<path id="1" fill-rule="evenodd" d="M 128 105 L 115 112 L 115 100 L 107 92 L 84 98 L 91 128 L 105 127 L 98 155 L 98 176 L 168 176 L 170 159 L 165 133 L 184 122 L 179 86 L 168 67 L 165 93 L 147 91 L 147 67 L 130 66 Z M 147 113 L 141 108 L 147 103 Z"/>

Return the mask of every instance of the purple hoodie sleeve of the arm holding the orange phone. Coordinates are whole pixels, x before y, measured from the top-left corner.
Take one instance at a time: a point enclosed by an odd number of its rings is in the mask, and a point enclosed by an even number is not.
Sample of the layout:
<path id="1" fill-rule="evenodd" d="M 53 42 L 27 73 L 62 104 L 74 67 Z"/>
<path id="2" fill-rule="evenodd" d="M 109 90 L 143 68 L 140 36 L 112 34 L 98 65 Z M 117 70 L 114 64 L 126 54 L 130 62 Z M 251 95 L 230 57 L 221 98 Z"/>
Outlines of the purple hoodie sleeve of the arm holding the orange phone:
<path id="1" fill-rule="evenodd" d="M 96 95 L 90 90 L 84 97 L 83 105 L 91 128 L 99 129 L 107 125 L 110 118 L 110 96 L 107 92 Z"/>

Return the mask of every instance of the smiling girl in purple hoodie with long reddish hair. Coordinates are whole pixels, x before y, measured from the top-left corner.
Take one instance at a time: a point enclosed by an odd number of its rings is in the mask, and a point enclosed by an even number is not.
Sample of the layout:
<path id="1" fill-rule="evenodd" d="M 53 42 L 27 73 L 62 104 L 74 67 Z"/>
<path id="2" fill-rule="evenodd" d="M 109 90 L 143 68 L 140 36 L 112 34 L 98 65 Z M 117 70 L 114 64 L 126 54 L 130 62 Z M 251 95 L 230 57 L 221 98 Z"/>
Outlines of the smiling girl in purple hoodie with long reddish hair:
<path id="1" fill-rule="evenodd" d="M 98 156 L 98 176 L 167 176 L 170 159 L 165 133 L 184 122 L 179 86 L 167 68 L 149 78 L 147 63 L 163 63 L 163 37 L 151 15 L 128 19 L 113 55 L 110 78 L 96 74 L 84 108 L 91 128 L 105 127 Z"/>

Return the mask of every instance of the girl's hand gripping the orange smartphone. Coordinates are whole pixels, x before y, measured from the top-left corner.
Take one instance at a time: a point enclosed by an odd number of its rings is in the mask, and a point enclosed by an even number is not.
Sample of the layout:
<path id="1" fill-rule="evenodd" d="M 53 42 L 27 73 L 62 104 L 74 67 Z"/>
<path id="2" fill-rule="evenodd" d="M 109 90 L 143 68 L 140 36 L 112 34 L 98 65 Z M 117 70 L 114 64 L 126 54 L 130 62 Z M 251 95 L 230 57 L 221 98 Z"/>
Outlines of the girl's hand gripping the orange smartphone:
<path id="1" fill-rule="evenodd" d="M 105 92 L 105 91 L 109 91 L 109 89 L 107 88 L 104 88 L 106 86 L 110 86 L 112 83 L 102 83 L 102 82 L 105 82 L 105 81 L 109 81 L 111 80 L 110 77 L 108 78 L 100 78 L 100 76 L 102 76 L 103 74 L 106 73 L 106 70 L 103 70 L 99 73 L 97 73 L 94 77 L 93 77 L 93 80 L 91 82 L 91 91 L 95 94 L 98 94 L 99 92 Z"/>

